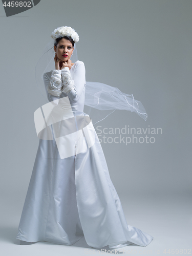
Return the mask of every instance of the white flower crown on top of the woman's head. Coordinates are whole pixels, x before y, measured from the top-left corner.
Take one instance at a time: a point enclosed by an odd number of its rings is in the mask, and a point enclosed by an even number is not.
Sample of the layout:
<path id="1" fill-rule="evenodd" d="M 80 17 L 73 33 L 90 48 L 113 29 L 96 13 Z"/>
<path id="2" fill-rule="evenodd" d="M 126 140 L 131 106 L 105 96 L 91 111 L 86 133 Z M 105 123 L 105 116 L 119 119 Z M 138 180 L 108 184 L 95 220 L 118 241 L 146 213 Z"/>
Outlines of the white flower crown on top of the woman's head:
<path id="1" fill-rule="evenodd" d="M 51 34 L 51 37 L 56 40 L 57 38 L 59 37 L 62 37 L 62 36 L 70 36 L 74 42 L 78 42 L 79 40 L 79 36 L 77 34 L 77 32 L 72 29 L 71 27 L 59 27 L 57 29 L 55 29 L 52 34 Z"/>

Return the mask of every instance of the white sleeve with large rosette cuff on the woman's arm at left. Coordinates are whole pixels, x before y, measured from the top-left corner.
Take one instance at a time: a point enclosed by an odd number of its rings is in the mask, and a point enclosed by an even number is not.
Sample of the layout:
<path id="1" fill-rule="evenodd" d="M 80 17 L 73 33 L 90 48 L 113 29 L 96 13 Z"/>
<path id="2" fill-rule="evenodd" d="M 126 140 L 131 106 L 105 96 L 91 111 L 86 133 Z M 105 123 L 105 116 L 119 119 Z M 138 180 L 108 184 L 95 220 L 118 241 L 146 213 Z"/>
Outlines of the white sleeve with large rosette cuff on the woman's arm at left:
<path id="1" fill-rule="evenodd" d="M 45 73 L 43 79 L 49 101 L 60 98 L 60 94 L 62 93 L 61 71 L 53 70 L 51 78 L 48 76 L 48 73 Z"/>

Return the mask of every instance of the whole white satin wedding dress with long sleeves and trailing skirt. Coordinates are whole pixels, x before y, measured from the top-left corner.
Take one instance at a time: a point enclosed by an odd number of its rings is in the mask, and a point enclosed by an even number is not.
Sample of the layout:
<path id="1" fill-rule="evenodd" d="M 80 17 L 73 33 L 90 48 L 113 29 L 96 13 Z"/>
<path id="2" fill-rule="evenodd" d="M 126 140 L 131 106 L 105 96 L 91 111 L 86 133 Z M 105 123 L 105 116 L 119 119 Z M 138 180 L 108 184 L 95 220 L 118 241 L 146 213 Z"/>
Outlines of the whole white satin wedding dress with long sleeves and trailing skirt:
<path id="1" fill-rule="evenodd" d="M 94 248 L 148 245 L 153 237 L 126 223 L 93 123 L 83 112 L 84 63 L 47 72 L 44 83 L 47 124 L 39 132 L 16 238 L 73 245 L 84 236 Z"/>

